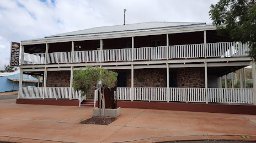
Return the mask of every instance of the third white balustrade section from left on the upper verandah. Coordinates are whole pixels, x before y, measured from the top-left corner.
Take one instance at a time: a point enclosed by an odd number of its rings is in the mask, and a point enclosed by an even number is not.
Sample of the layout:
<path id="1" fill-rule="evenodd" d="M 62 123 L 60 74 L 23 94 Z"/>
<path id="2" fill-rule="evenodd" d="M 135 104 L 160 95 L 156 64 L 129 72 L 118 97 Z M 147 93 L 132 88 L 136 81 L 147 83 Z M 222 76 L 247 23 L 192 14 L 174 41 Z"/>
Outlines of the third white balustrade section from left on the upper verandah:
<path id="1" fill-rule="evenodd" d="M 74 63 L 100 62 L 100 50 L 76 51 L 73 58 Z"/>

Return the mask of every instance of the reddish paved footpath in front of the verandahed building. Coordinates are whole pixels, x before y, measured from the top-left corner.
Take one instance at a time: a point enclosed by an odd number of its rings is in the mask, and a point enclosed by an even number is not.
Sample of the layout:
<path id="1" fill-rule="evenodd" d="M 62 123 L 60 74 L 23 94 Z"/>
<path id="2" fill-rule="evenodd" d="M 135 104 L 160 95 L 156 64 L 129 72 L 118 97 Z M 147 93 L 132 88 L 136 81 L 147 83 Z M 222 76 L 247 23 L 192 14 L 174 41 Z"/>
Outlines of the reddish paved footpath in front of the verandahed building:
<path id="1" fill-rule="evenodd" d="M 0 100 L 0 142 L 256 141 L 252 115 L 121 108 L 110 125 L 78 124 L 92 117 L 92 109 Z"/>

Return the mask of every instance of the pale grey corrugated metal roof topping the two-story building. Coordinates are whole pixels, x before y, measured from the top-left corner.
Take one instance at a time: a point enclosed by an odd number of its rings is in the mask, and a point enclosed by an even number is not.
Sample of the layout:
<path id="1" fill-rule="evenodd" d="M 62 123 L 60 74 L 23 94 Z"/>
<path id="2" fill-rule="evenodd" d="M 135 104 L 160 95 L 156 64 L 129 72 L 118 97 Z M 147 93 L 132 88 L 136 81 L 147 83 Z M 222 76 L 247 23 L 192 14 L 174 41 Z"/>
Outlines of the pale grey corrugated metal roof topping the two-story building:
<path id="1" fill-rule="evenodd" d="M 183 22 L 148 22 L 148 23 L 94 27 L 91 29 L 67 32 L 63 34 L 46 36 L 45 38 L 36 38 L 36 39 L 24 40 L 24 41 L 49 40 L 49 39 L 56 39 L 56 38 L 70 38 L 70 37 L 110 35 L 110 34 L 124 34 L 124 33 L 131 33 L 131 32 L 179 29 L 179 28 L 186 28 L 186 27 L 200 27 L 200 26 L 210 26 L 210 25 L 212 24 L 183 23 Z"/>

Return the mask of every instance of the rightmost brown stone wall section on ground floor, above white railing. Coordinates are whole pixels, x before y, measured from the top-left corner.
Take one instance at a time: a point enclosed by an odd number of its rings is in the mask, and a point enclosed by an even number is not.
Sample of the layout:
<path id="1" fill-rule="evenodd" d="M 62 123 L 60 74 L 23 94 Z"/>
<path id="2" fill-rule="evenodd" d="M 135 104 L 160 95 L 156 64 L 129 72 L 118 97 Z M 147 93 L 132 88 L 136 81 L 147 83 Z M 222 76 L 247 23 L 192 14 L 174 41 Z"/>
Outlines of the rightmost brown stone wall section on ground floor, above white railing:
<path id="1" fill-rule="evenodd" d="M 178 87 L 205 87 L 204 68 L 177 68 Z"/>

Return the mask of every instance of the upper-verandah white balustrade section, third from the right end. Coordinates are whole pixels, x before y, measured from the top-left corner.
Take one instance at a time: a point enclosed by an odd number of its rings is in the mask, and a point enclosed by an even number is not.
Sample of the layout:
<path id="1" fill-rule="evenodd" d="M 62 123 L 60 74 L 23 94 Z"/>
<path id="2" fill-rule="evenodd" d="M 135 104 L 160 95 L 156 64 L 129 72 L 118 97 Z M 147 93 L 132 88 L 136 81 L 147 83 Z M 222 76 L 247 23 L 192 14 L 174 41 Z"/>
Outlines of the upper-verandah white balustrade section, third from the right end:
<path id="1" fill-rule="evenodd" d="M 166 46 L 134 48 L 134 60 L 166 59 Z"/>

